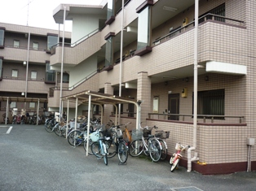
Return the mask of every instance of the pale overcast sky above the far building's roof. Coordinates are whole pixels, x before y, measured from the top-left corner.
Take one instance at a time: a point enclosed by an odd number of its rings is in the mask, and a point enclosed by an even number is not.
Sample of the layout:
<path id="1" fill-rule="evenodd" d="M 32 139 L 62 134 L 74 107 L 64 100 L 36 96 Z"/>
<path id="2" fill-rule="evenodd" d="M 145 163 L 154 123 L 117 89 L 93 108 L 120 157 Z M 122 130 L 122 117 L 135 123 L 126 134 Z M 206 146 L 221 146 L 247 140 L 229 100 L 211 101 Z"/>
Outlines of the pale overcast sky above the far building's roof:
<path id="1" fill-rule="evenodd" d="M 1 0 L 0 23 L 29 25 L 30 27 L 58 30 L 59 24 L 55 24 L 53 11 L 60 4 L 99 5 L 102 1 L 103 0 Z M 63 28 L 63 24 L 60 25 L 60 29 L 61 28 Z M 65 31 L 71 30 L 72 22 L 65 22 Z"/>

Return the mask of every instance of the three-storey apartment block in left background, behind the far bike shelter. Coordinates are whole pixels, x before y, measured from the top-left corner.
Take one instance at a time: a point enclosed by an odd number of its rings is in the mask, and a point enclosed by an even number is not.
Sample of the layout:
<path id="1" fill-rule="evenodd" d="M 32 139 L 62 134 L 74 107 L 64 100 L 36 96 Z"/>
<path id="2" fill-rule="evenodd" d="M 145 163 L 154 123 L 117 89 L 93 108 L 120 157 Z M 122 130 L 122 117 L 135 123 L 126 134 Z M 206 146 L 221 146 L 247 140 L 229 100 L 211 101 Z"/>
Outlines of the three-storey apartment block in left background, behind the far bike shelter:
<path id="1" fill-rule="evenodd" d="M 50 89 L 60 86 L 60 72 L 50 66 L 50 48 L 61 36 L 58 30 L 0 23 L 1 116 L 7 113 L 12 119 L 13 108 L 19 114 L 59 109 L 49 108 L 47 99 Z M 65 42 L 70 44 L 70 39 L 71 33 L 65 33 Z M 69 76 L 63 76 L 65 87 Z"/>

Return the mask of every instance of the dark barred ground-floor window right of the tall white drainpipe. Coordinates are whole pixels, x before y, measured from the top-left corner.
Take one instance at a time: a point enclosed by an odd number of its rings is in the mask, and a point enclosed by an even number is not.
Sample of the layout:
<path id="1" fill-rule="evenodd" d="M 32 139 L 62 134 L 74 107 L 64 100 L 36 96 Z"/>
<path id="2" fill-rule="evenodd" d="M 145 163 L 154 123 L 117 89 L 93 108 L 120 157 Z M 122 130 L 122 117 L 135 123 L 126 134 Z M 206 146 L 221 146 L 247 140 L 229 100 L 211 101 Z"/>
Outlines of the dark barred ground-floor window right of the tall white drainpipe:
<path id="1" fill-rule="evenodd" d="M 198 115 L 225 115 L 225 89 L 197 93 Z"/>

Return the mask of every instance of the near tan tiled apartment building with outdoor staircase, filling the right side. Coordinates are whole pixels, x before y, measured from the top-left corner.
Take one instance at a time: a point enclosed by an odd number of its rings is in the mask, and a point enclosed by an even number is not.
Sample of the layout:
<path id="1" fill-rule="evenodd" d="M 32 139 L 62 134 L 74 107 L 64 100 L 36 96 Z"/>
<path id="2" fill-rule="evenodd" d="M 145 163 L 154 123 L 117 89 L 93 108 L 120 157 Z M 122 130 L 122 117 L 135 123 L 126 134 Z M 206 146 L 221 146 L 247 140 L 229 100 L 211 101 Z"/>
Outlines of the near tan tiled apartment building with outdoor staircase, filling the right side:
<path id="1" fill-rule="evenodd" d="M 192 170 L 202 174 L 246 171 L 248 161 L 251 170 L 256 170 L 256 2 L 199 1 L 196 142 L 195 0 L 125 0 L 123 22 L 121 2 L 104 0 L 100 6 L 61 4 L 55 9 L 56 23 L 63 23 L 64 9 L 65 20 L 73 20 L 71 44 L 64 47 L 64 71 L 69 74 L 69 85 L 63 96 L 85 90 L 119 95 L 121 76 L 121 97 L 143 100 L 143 125 L 157 125 L 160 130 L 170 131 L 170 138 L 166 139 L 169 155 L 174 152 L 175 143 L 181 142 L 196 145 L 199 161 L 192 162 Z M 7 57 L 2 50 L 0 56 Z M 40 63 L 50 60 L 51 69 L 60 72 L 61 44 L 52 47 L 49 57 Z M 48 107 L 58 106 L 57 87 L 51 91 Z M 66 106 L 64 102 L 64 110 Z M 73 108 L 73 117 L 74 105 L 69 107 Z M 79 115 L 87 112 L 84 105 L 77 109 Z M 94 111 L 101 112 L 98 107 Z M 104 123 L 109 116 L 114 117 L 113 111 L 113 106 L 104 106 Z M 121 124 L 135 124 L 135 112 L 133 104 L 123 104 Z M 250 158 L 248 137 L 253 145 Z M 187 154 L 188 151 L 183 152 L 184 167 Z"/>

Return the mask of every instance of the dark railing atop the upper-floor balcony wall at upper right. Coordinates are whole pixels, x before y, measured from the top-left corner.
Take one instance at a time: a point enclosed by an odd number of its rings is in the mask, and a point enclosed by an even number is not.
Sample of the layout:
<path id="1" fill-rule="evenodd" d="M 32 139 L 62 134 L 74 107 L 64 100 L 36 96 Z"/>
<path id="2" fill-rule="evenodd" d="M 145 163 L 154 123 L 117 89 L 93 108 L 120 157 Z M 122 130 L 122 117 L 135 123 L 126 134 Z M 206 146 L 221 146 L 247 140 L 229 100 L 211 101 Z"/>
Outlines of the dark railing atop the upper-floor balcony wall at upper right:
<path id="1" fill-rule="evenodd" d="M 199 19 L 200 23 L 205 22 L 206 20 L 214 20 L 216 22 L 220 22 L 220 23 L 225 23 L 225 24 L 233 24 L 233 25 L 237 25 L 237 26 L 244 26 L 245 21 L 241 21 L 241 20 L 233 20 L 221 15 L 214 15 L 214 14 L 206 14 L 201 16 Z M 168 39 L 175 37 L 176 35 L 180 34 L 180 33 L 184 33 L 185 31 L 187 31 L 189 28 L 193 28 L 195 25 L 195 21 L 192 21 L 191 23 L 187 24 L 186 26 L 183 27 L 179 27 L 179 28 L 174 28 L 174 30 L 172 30 L 170 33 L 166 34 L 164 37 L 158 37 L 156 39 L 156 41 L 153 41 L 152 44 L 154 46 L 160 44 L 163 41 L 167 41 Z"/>

